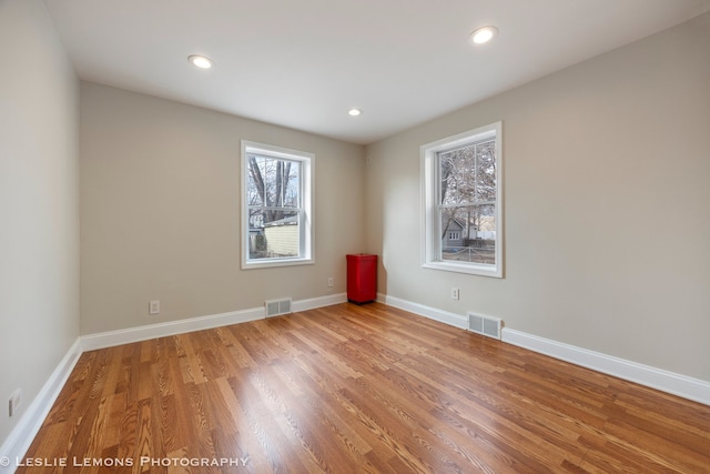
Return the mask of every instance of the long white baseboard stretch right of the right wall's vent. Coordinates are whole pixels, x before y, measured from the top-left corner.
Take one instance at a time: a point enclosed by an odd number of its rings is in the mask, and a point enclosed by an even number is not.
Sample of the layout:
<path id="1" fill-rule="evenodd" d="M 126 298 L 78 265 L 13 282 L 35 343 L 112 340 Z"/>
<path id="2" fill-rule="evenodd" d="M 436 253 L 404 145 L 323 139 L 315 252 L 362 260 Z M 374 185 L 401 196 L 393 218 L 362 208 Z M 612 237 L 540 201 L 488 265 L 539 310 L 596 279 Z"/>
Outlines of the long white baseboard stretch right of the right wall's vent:
<path id="1" fill-rule="evenodd" d="M 582 367 L 710 405 L 710 382 L 551 341 L 508 327 L 503 329 L 503 341 L 572 364 L 581 365 Z"/>

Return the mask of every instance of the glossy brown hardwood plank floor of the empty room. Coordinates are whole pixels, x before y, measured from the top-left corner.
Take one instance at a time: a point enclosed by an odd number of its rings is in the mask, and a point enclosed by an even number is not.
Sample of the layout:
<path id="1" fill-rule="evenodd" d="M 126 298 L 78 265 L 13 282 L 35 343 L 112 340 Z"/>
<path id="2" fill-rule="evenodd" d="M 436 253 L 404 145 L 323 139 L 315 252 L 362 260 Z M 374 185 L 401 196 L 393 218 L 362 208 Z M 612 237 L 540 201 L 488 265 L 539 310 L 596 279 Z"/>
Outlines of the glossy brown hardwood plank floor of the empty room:
<path id="1" fill-rule="evenodd" d="M 84 353 L 22 464 L 19 473 L 703 473 L 710 406 L 346 303 Z"/>

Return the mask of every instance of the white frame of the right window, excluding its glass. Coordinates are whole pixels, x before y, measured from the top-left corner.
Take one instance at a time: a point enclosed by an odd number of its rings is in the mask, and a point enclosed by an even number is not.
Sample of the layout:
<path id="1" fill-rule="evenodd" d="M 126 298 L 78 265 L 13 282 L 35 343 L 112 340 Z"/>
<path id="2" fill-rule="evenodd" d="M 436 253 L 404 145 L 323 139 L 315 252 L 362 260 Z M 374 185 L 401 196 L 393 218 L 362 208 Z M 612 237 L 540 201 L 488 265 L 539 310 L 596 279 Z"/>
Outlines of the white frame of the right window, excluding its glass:
<path id="1" fill-rule="evenodd" d="M 503 232 L 503 123 L 496 122 L 479 127 L 464 133 L 447 137 L 420 147 L 422 208 L 424 211 L 422 225 L 422 266 L 425 269 L 474 275 L 503 278 L 504 275 L 504 232 Z M 495 264 L 474 262 L 454 262 L 442 260 L 442 219 L 437 210 L 439 192 L 439 167 L 437 153 L 460 148 L 486 138 L 496 139 L 496 250 Z"/>

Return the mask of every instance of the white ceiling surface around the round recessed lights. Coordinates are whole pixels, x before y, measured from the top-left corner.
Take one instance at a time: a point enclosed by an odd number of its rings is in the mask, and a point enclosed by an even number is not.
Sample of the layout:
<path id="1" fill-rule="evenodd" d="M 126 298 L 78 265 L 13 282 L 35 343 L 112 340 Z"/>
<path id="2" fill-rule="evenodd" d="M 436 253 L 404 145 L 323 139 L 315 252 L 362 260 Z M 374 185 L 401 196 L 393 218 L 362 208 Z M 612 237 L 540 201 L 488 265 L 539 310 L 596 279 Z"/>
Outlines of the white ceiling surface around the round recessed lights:
<path id="1" fill-rule="evenodd" d="M 45 0 L 81 79 L 371 143 L 710 0 Z M 473 46 L 493 24 L 498 37 Z M 214 61 L 197 70 L 187 56 Z M 349 108 L 363 114 L 349 117 Z"/>

